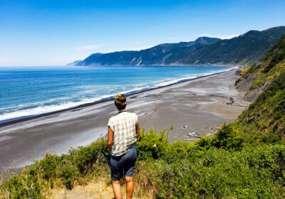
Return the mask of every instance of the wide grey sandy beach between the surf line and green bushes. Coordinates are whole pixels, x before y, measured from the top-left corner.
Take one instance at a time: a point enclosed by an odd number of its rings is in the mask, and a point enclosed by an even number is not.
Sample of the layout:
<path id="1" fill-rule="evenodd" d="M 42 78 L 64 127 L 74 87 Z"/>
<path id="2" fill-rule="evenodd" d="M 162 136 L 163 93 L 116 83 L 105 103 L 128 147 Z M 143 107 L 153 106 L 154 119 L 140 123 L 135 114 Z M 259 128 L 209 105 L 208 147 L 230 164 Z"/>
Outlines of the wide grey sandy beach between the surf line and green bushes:
<path id="1" fill-rule="evenodd" d="M 173 126 L 170 141 L 186 141 L 191 132 L 204 136 L 236 119 L 249 105 L 234 87 L 237 78 L 232 70 L 142 92 L 128 97 L 127 109 L 138 114 L 146 131 Z M 105 136 L 114 114 L 117 110 L 109 101 L 0 127 L 0 170 L 21 168 L 46 152 L 62 154 L 86 146 Z"/>

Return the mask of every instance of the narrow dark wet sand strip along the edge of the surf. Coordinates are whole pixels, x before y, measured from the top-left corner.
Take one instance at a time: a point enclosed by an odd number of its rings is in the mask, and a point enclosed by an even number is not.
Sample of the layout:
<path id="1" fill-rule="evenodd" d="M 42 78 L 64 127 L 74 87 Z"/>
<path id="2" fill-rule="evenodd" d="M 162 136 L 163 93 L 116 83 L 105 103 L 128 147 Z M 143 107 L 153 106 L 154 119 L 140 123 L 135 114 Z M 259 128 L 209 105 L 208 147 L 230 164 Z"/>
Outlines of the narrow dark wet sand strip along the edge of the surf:
<path id="1" fill-rule="evenodd" d="M 221 65 L 219 65 L 219 66 L 221 66 Z M 224 66 L 226 66 L 226 65 L 224 65 Z M 198 76 L 198 77 L 190 77 L 190 78 L 186 78 L 185 80 L 177 80 L 177 82 L 173 82 L 173 83 L 170 83 L 168 85 L 162 85 L 162 86 L 158 86 L 158 87 L 150 87 L 150 88 L 147 88 L 147 89 L 134 90 L 134 91 L 130 91 L 130 92 L 123 92 L 123 94 L 125 96 L 127 96 L 127 97 L 130 97 L 130 96 L 133 96 L 133 95 L 138 95 L 138 94 L 143 93 L 143 92 L 148 92 L 148 91 L 151 91 L 151 90 L 157 90 L 157 89 L 161 89 L 161 88 L 165 88 L 165 87 L 170 87 L 172 85 L 179 85 L 179 84 L 181 84 L 183 82 L 190 82 L 192 80 L 197 80 L 197 79 L 202 78 L 202 77 L 209 77 L 209 76 L 212 76 L 212 75 L 218 75 L 218 74 L 221 74 L 223 72 L 229 72 L 229 71 L 232 71 L 232 70 L 238 70 L 239 68 L 242 68 L 242 65 L 237 65 L 237 66 L 231 65 L 231 66 L 233 68 L 231 68 L 229 70 L 223 70 L 221 72 L 213 72 L 211 74 L 201 75 L 201 76 Z M 3 121 L 0 121 L 0 128 L 1 127 L 7 127 L 7 126 L 10 126 L 10 125 L 13 125 L 13 124 L 18 124 L 18 123 L 21 123 L 21 122 L 26 122 L 26 121 L 29 121 L 29 120 L 32 120 L 32 119 L 38 119 L 38 118 L 41 118 L 41 117 L 50 116 L 50 115 L 53 115 L 53 114 L 59 114 L 59 113 L 62 113 L 62 112 L 72 111 L 72 110 L 75 110 L 75 109 L 81 109 L 81 108 L 84 108 L 84 107 L 90 107 L 90 106 L 93 106 L 95 104 L 100 104 L 100 103 L 103 103 L 103 102 L 110 102 L 112 100 L 113 100 L 113 97 L 105 97 L 105 98 L 99 99 L 99 100 L 97 100 L 95 102 L 88 102 L 88 103 L 80 104 L 80 105 L 78 105 L 76 107 L 69 107 L 69 108 L 66 108 L 66 109 L 60 109 L 60 110 L 53 111 L 53 112 L 46 112 L 46 113 L 43 113 L 43 114 L 35 114 L 35 115 L 29 115 L 29 116 L 18 117 L 18 118 L 13 118 L 13 119 L 5 119 Z"/>

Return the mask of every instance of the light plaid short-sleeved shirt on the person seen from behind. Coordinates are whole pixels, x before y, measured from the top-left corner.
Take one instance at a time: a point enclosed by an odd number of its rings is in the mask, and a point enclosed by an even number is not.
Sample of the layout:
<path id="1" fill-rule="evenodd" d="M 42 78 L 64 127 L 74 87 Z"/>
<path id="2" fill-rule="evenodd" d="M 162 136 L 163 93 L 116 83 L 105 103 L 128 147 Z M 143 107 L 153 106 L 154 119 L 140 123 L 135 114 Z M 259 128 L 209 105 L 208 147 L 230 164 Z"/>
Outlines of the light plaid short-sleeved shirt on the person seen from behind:
<path id="1" fill-rule="evenodd" d="M 130 146 L 135 144 L 136 124 L 138 124 L 138 115 L 130 112 L 120 112 L 109 119 L 108 127 L 114 133 L 111 151 L 113 156 L 122 156 L 129 151 Z"/>

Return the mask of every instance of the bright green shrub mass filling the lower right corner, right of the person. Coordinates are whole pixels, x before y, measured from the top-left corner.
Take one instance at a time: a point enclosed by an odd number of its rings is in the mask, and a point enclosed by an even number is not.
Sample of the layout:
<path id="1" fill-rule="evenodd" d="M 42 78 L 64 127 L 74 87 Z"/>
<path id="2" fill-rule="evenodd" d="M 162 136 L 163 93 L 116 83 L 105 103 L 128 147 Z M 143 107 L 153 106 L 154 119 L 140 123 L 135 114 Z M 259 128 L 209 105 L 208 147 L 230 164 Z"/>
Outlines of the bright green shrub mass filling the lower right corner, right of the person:
<path id="1" fill-rule="evenodd" d="M 284 198 L 284 153 L 283 145 L 213 148 L 195 161 L 144 161 L 136 178 L 155 198 Z"/>

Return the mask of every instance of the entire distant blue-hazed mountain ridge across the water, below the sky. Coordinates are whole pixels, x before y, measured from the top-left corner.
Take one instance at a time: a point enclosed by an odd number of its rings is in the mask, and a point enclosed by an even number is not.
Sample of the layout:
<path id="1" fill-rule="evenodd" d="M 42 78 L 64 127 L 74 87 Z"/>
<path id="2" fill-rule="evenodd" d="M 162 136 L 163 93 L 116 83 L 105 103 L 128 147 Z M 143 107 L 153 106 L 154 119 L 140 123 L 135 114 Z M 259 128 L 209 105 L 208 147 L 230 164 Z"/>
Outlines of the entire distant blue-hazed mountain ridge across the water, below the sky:
<path id="1" fill-rule="evenodd" d="M 285 34 L 285 26 L 249 31 L 221 40 L 200 37 L 195 41 L 164 43 L 145 50 L 95 53 L 69 65 L 242 65 L 259 60 Z"/>

